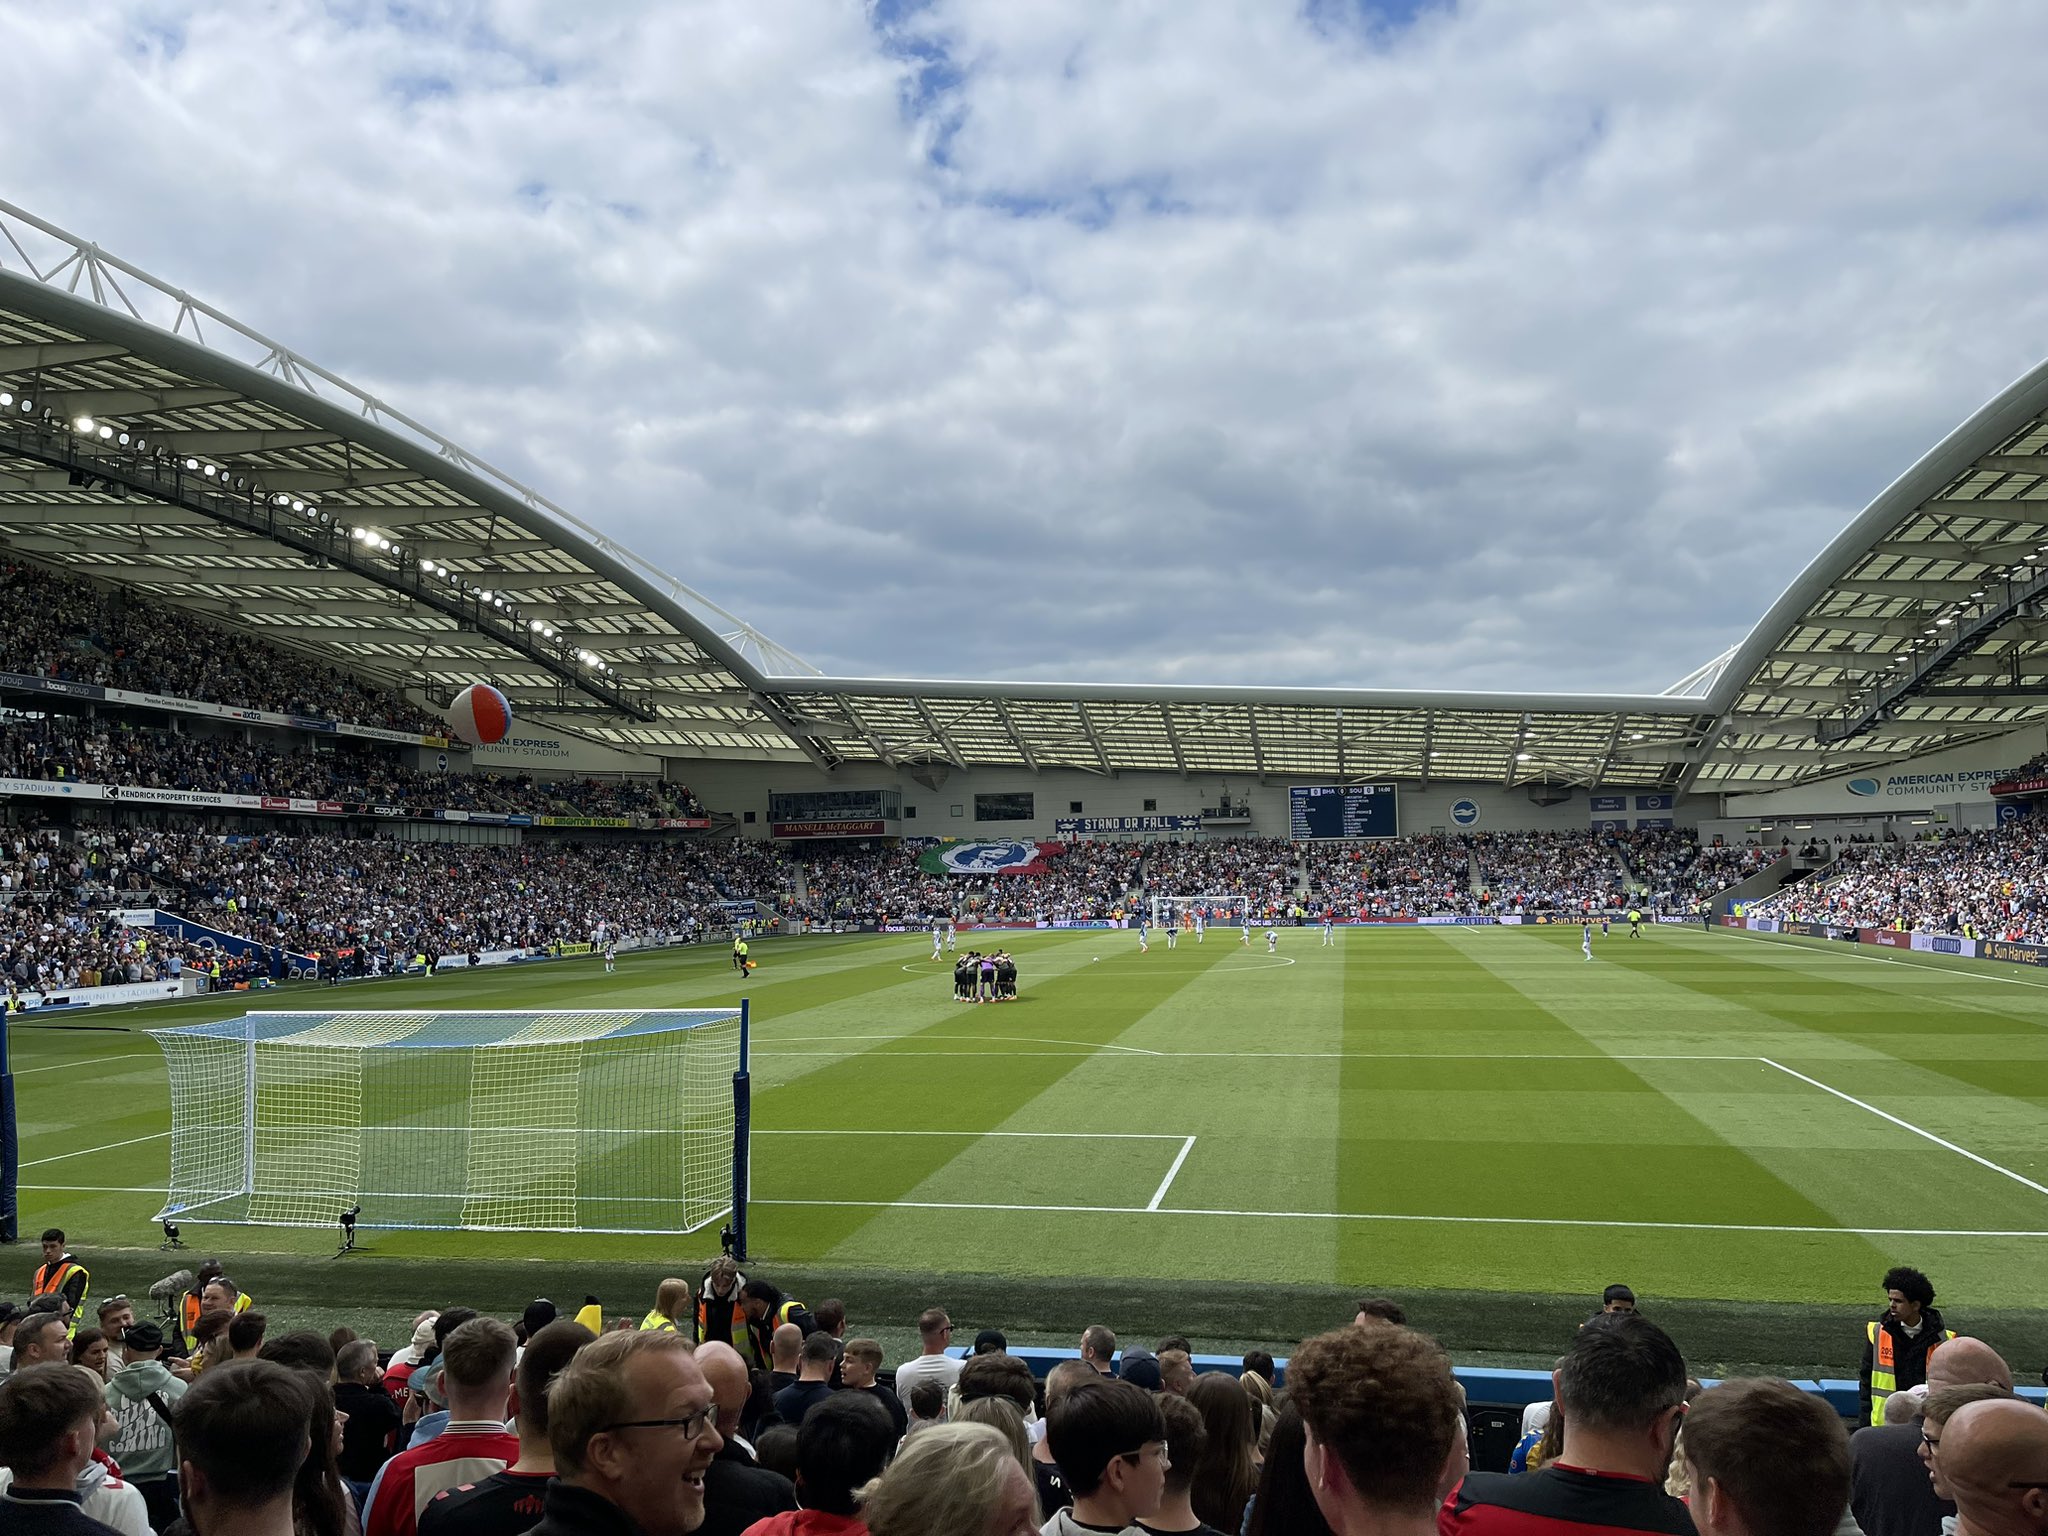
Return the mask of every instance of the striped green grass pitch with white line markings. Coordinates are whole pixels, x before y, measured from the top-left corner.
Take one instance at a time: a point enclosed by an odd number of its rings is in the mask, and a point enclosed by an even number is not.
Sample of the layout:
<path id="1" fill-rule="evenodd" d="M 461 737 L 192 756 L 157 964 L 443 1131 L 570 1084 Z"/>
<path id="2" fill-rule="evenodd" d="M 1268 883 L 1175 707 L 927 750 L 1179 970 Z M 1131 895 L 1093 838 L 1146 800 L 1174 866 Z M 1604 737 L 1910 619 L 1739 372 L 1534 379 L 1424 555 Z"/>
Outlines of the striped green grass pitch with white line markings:
<path id="1" fill-rule="evenodd" d="M 936 1298 L 1018 1337 L 1108 1319 L 1286 1346 L 1374 1290 L 1454 1348 L 1530 1360 L 1620 1278 L 1696 1360 L 1810 1372 L 1853 1364 L 1855 1319 L 1909 1262 L 1954 1323 L 2015 1364 L 2048 1356 L 2025 1311 L 2048 1245 L 2044 981 L 1677 928 L 1597 940 L 1593 965 L 1577 930 L 1354 930 L 1337 948 L 1288 930 L 1280 963 L 1229 932 L 1143 956 L 1106 932 L 1014 948 L 1022 1001 L 965 1008 L 924 936 L 756 946 L 756 1272 L 846 1296 L 885 1339 Z M 702 950 L 342 999 L 737 995 Z M 150 1223 L 168 1092 L 137 1030 L 244 1006 L 14 1028 L 23 1231 L 66 1227 L 96 1294 L 172 1268 Z M 324 1231 L 186 1237 L 274 1315 L 385 1331 L 457 1292 L 516 1311 L 596 1290 L 637 1313 L 713 1247 L 365 1229 L 369 1251 L 334 1262 Z"/>

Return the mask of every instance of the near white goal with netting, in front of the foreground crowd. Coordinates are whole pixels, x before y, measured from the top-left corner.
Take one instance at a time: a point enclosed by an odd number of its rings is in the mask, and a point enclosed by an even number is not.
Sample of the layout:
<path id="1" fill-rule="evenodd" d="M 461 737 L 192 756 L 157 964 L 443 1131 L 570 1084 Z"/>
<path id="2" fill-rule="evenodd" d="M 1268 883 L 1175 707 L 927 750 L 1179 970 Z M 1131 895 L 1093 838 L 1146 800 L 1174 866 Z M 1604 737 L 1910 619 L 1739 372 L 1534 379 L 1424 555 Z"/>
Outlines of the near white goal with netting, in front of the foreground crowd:
<path id="1" fill-rule="evenodd" d="M 743 1253 L 748 1012 L 305 1012 L 152 1030 L 158 1221 L 690 1233 Z"/>

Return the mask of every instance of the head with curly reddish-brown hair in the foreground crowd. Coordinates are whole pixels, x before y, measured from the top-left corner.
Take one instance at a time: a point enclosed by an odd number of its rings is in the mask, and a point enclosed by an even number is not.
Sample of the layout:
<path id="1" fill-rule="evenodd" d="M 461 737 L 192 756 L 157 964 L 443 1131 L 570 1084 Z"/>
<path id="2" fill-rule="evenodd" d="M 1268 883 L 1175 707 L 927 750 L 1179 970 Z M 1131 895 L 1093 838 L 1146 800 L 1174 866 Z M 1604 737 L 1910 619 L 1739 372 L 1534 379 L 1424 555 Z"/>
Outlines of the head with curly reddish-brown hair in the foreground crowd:
<path id="1" fill-rule="evenodd" d="M 1374 1516 L 1427 1518 L 1464 1473 L 1458 1382 L 1436 1341 L 1413 1329 L 1389 1323 L 1309 1339 L 1288 1362 L 1288 1403 L 1300 1411 L 1309 1483 L 1333 1530 Z"/>

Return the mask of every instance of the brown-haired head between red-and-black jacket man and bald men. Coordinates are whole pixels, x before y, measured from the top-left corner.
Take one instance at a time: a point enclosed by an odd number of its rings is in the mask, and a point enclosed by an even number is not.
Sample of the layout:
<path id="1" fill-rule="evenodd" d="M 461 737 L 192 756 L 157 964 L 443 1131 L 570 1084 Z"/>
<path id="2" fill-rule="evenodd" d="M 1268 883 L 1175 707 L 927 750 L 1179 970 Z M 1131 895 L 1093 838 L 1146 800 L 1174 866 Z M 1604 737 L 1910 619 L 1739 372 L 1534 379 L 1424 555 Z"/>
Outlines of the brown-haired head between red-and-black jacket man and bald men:
<path id="1" fill-rule="evenodd" d="M 1849 1436 L 1784 1380 L 1729 1380 L 1686 1413 L 1686 1477 L 1702 1536 L 1829 1536 L 1849 1507 Z"/>

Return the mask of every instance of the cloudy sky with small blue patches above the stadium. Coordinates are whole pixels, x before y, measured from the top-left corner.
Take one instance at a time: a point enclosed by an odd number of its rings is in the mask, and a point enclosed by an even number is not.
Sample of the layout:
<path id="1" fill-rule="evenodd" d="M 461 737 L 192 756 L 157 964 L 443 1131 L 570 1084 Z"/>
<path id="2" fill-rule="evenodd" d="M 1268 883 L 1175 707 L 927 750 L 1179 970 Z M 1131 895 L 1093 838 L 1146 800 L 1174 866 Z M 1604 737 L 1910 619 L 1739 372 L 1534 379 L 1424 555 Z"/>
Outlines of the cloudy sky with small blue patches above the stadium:
<path id="1" fill-rule="evenodd" d="M 2048 354 L 2036 0 L 0 0 L 0 197 L 827 672 L 1655 690 Z"/>

